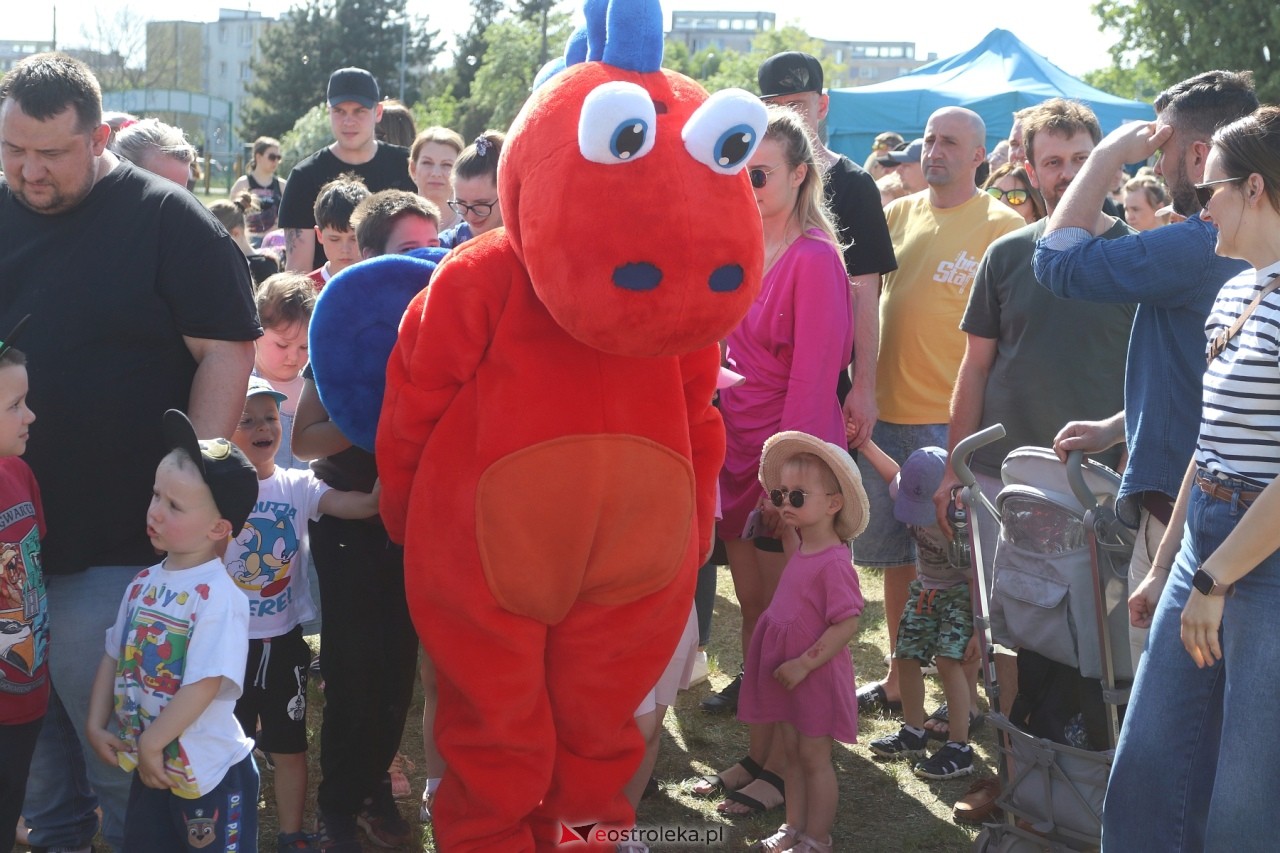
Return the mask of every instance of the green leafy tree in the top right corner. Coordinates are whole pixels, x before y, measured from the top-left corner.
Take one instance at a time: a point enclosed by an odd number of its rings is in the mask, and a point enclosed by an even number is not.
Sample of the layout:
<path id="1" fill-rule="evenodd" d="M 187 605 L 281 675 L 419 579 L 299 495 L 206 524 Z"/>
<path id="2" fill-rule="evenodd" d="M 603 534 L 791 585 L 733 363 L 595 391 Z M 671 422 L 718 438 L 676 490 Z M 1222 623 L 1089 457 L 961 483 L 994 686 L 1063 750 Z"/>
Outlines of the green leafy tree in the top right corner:
<path id="1" fill-rule="evenodd" d="M 1252 69 L 1258 100 L 1280 101 L 1280 5 L 1275 0 L 1100 0 L 1111 58 L 1149 67 L 1160 88 L 1201 72 Z"/>

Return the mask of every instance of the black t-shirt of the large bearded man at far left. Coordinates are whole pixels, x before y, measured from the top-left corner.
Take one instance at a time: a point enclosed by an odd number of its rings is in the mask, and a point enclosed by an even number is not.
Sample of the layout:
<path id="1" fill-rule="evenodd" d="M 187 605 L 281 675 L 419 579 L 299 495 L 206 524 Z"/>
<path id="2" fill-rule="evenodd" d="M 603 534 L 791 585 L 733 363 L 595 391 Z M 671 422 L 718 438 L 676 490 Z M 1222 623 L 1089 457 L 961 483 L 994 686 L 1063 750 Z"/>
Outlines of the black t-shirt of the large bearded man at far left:
<path id="1" fill-rule="evenodd" d="M 0 334 L 31 315 L 18 347 L 45 570 L 151 565 L 160 419 L 188 409 L 196 373 L 183 336 L 262 333 L 244 255 L 195 196 L 128 163 L 58 215 L 27 210 L 0 178 Z"/>

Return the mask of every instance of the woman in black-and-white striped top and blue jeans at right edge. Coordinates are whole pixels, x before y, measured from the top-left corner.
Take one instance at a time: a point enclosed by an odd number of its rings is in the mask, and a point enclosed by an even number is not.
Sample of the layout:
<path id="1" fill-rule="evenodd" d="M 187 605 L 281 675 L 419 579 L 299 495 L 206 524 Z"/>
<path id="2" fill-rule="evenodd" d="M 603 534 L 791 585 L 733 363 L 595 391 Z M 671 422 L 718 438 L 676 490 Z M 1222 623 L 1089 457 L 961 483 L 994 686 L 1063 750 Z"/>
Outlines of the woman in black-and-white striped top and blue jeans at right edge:
<path id="1" fill-rule="evenodd" d="M 1252 266 L 1204 324 L 1201 429 L 1147 579 L 1151 625 L 1103 850 L 1272 850 L 1280 743 L 1280 108 L 1219 128 L 1196 186 L 1216 251 Z"/>

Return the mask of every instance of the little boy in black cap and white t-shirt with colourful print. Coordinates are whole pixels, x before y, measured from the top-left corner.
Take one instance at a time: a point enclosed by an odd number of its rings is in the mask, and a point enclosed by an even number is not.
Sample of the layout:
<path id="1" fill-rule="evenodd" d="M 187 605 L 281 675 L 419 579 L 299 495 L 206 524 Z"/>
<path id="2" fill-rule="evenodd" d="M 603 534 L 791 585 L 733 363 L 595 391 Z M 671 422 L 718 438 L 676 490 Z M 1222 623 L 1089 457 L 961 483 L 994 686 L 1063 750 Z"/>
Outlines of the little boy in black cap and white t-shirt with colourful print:
<path id="1" fill-rule="evenodd" d="M 236 721 L 248 603 L 220 555 L 257 496 L 253 466 L 225 438 L 197 441 L 164 415 L 147 535 L 166 552 L 128 585 L 90 695 L 93 752 L 137 772 L 125 850 L 257 852 L 253 742 Z"/>

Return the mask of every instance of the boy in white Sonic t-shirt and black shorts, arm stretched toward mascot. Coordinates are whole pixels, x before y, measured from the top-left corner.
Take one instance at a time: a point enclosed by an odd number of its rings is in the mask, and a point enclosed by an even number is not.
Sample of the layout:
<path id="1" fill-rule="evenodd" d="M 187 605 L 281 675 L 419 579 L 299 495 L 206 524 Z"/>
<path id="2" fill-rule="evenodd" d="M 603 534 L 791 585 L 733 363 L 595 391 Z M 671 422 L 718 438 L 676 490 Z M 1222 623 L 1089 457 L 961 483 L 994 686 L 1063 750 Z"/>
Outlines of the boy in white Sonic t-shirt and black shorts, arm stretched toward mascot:
<path id="1" fill-rule="evenodd" d="M 307 850 L 302 812 L 307 790 L 307 666 L 311 649 L 303 622 L 315 619 L 307 579 L 307 521 L 321 514 L 367 519 L 378 514 L 375 492 L 339 492 L 310 469 L 276 465 L 280 403 L 285 396 L 266 379 L 250 377 L 244 414 L 232 441 L 257 474 L 257 501 L 227 549 L 227 573 L 250 602 L 244 690 L 236 716 L 255 731 L 257 747 L 275 765 L 279 850 Z"/>

